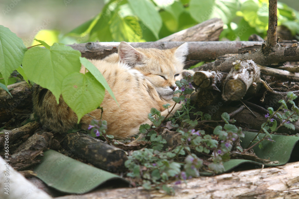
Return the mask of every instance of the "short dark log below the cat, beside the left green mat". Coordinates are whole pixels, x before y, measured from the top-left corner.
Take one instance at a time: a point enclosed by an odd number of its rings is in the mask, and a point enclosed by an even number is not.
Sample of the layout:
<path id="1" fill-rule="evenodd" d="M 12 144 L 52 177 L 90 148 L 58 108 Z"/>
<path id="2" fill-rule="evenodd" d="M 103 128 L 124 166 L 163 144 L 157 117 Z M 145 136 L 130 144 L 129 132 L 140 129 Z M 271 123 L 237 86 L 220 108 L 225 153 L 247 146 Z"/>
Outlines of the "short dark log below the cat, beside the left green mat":
<path id="1" fill-rule="evenodd" d="M 83 133 L 68 134 L 62 142 L 62 147 L 70 152 L 70 155 L 76 155 L 110 172 L 125 170 L 124 163 L 128 159 L 123 150 Z"/>

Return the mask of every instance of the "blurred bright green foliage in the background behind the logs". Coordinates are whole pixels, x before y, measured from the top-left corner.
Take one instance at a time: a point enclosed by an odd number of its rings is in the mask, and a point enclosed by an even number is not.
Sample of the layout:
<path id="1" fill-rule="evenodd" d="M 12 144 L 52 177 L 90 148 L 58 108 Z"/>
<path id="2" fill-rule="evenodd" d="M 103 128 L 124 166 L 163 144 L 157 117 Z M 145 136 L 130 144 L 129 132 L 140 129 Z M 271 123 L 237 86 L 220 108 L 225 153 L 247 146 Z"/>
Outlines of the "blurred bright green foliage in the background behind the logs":
<path id="1" fill-rule="evenodd" d="M 41 30 L 36 38 L 65 44 L 156 41 L 217 17 L 225 24 L 220 39 L 247 41 L 253 33 L 266 36 L 268 5 L 268 0 L 107 0 L 101 13 L 71 32 Z M 278 2 L 278 25 L 299 35 L 298 11 Z"/>

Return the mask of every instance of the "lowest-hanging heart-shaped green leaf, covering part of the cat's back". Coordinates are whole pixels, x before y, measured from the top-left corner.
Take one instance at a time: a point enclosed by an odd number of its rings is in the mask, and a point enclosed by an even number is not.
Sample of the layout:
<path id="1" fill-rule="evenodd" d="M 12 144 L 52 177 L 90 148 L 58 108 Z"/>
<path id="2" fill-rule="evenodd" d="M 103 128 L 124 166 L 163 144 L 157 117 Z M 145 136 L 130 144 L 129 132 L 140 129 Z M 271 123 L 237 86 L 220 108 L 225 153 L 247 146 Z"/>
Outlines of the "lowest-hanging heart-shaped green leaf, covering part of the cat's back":
<path id="1" fill-rule="evenodd" d="M 86 113 L 100 106 L 104 95 L 105 88 L 90 72 L 86 74 L 73 72 L 62 81 L 62 97 L 77 114 L 78 123 Z"/>

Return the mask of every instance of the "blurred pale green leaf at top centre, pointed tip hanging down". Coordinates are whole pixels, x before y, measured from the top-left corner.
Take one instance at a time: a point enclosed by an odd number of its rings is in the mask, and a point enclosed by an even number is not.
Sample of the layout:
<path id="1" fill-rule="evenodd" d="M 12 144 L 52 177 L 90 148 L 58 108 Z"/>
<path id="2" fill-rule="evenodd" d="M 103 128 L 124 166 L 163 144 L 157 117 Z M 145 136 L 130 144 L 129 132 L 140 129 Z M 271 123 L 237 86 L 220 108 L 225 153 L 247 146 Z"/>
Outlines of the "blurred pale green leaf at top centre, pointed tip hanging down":
<path id="1" fill-rule="evenodd" d="M 136 16 L 146 25 L 158 39 L 158 33 L 162 27 L 162 19 L 151 1 L 128 0 L 129 6 Z"/>

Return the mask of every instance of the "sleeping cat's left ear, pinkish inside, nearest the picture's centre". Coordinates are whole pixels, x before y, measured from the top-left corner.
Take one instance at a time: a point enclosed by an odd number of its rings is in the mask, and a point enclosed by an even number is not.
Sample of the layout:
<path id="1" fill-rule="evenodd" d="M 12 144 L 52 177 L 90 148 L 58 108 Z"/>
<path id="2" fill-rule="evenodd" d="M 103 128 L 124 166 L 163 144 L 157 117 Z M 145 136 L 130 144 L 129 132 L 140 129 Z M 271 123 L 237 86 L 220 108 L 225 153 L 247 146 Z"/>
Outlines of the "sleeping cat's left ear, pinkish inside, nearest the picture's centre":
<path id="1" fill-rule="evenodd" d="M 121 62 L 134 66 L 142 63 L 143 53 L 137 51 L 130 44 L 125 41 L 120 42 L 118 46 L 118 57 Z"/>

